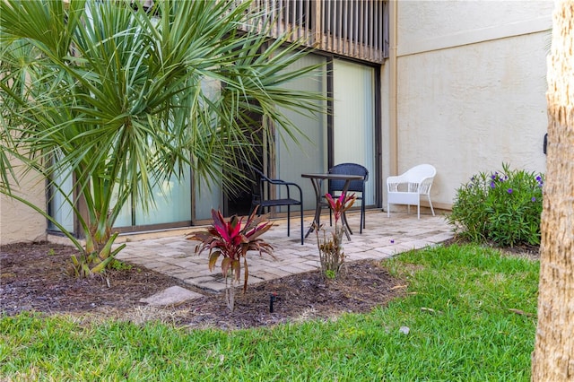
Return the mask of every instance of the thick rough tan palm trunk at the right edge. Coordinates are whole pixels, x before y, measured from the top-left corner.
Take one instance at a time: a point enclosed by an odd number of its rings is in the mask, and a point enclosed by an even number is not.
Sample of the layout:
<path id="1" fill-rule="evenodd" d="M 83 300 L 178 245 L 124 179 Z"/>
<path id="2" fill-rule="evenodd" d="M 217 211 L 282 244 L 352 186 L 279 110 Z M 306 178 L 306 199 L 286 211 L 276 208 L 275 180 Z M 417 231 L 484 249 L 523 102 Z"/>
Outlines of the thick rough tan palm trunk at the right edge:
<path id="1" fill-rule="evenodd" d="M 544 185 L 534 381 L 574 380 L 574 1 L 556 0 L 548 60 Z"/>

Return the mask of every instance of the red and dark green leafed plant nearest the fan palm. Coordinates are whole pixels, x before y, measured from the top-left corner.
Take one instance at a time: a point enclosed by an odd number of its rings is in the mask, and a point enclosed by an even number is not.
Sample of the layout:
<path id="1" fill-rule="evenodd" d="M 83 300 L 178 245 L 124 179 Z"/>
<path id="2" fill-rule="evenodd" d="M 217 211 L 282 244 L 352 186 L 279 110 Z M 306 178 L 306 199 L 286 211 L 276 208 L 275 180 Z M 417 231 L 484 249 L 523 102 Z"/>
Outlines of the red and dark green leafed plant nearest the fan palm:
<path id="1" fill-rule="evenodd" d="M 273 223 L 266 221 L 264 217 L 257 216 L 257 208 L 243 222 L 243 218 L 237 215 L 230 217 L 229 221 L 223 218 L 220 211 L 212 209 L 213 225 L 203 231 L 192 232 L 187 235 L 188 240 L 201 241 L 196 246 L 196 255 L 201 254 L 205 249 L 209 249 L 209 269 L 213 271 L 217 259 L 222 258 L 222 273 L 227 286 L 228 276 L 231 276 L 231 285 L 225 290 L 225 302 L 228 308 L 234 308 L 234 287 L 235 282 L 239 282 L 241 274 L 240 259 L 243 257 L 245 274 L 243 291 L 248 287 L 248 251 L 258 251 L 259 256 L 268 254 L 273 256 L 273 246 L 259 238 L 269 230 Z"/>

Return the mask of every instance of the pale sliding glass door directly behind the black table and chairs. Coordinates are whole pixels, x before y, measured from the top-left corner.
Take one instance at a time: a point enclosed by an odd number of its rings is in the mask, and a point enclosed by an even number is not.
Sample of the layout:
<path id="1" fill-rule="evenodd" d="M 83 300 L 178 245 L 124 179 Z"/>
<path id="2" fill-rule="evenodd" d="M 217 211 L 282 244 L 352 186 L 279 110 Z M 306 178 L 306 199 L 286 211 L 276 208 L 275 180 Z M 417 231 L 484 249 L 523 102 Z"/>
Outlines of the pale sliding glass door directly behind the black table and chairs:
<path id="1" fill-rule="evenodd" d="M 301 178 L 304 172 L 326 172 L 329 166 L 338 163 L 359 163 L 369 169 L 370 179 L 366 185 L 367 205 L 376 204 L 376 106 L 375 75 L 373 67 L 324 56 L 308 56 L 299 65 L 326 63 L 331 60 L 333 70 L 327 80 L 326 66 L 317 70 L 312 79 L 298 80 L 290 86 L 306 91 L 320 91 L 327 94 L 327 82 L 332 83 L 330 108 L 331 132 L 328 133 L 327 117 L 302 117 L 286 111 L 291 120 L 308 138 L 299 144 L 291 139 L 275 136 L 275 161 L 277 178 L 293 181 L 303 188 L 305 209 L 315 208 L 315 193 L 311 183 Z M 326 107 L 326 105 L 325 105 Z M 328 136 L 328 135 L 332 136 Z M 332 158 L 329 163 L 328 158 Z"/>

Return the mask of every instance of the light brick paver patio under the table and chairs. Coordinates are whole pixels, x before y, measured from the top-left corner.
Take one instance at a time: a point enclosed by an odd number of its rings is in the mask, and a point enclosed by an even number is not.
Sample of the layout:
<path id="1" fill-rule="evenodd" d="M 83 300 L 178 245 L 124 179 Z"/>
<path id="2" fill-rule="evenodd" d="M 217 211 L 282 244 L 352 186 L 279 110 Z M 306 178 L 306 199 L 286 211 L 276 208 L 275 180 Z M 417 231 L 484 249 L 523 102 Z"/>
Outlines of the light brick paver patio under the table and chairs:
<path id="1" fill-rule="evenodd" d="M 354 232 L 351 241 L 344 239 L 344 253 L 348 262 L 383 259 L 411 249 L 433 246 L 453 236 L 451 227 L 440 213 L 437 216 L 422 214 L 419 220 L 413 213 L 391 213 L 391 217 L 387 218 L 387 213 L 371 210 L 366 214 L 367 227 L 362 234 L 359 234 L 360 213 L 348 213 L 347 217 Z M 328 219 L 328 215 L 322 217 L 327 230 Z M 306 228 L 311 221 L 311 217 L 305 219 Z M 207 252 L 196 256 L 194 251 L 197 242 L 185 239 L 185 234 L 191 230 L 126 236 L 123 238 L 127 241 L 126 248 L 117 258 L 169 274 L 207 291 L 222 291 L 225 282 L 221 272 L 218 272 L 219 265 L 217 270 L 210 272 Z M 263 236 L 274 246 L 275 259 L 265 255 L 259 257 L 257 253 L 248 254 L 249 284 L 313 271 L 320 267 L 315 233 L 311 233 L 305 244 L 301 245 L 300 227 L 296 219 L 291 221 L 291 237 L 287 237 L 286 230 L 286 221 L 277 220 L 274 221 L 274 227 Z"/>

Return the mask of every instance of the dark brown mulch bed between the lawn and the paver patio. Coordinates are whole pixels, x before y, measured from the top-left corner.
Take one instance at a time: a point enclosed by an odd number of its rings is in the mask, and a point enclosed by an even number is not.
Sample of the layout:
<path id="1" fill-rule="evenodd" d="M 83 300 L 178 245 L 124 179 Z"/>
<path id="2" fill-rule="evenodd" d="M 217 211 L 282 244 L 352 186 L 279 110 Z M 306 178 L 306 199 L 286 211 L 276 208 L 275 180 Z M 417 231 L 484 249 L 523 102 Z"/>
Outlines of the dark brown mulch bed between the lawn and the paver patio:
<path id="1" fill-rule="evenodd" d="M 223 294 L 198 290 L 142 267 L 111 269 L 105 276 L 77 279 L 69 272 L 70 256 L 75 252 L 74 247 L 47 242 L 0 247 L 0 312 L 66 314 L 80 322 L 161 320 L 177 326 L 236 329 L 368 312 L 385 306 L 405 290 L 403 281 L 391 277 L 376 262 L 361 261 L 347 264 L 338 280 L 325 280 L 317 271 L 249 286 L 245 294 L 238 289 L 235 309 L 230 312 Z M 163 308 L 140 302 L 174 285 L 205 297 Z M 270 312 L 272 295 L 274 309 Z"/>

